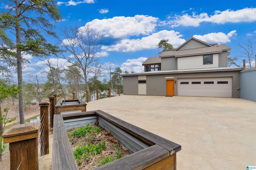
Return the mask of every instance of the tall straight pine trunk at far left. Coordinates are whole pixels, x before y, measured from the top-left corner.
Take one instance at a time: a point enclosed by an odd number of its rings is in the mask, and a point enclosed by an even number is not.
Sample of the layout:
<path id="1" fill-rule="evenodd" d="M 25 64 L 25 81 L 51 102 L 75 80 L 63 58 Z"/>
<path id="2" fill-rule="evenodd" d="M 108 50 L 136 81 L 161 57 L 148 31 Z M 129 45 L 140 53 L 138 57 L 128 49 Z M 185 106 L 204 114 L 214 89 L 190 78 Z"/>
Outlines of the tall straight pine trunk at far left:
<path id="1" fill-rule="evenodd" d="M 22 59 L 21 59 L 21 49 L 20 49 L 20 9 L 19 0 L 15 0 L 16 5 L 16 53 L 17 53 L 17 76 L 18 76 L 18 86 L 23 90 L 23 80 L 22 80 Z M 19 113 L 20 113 L 20 124 L 25 123 L 24 117 L 24 99 L 23 92 L 19 93 Z"/>

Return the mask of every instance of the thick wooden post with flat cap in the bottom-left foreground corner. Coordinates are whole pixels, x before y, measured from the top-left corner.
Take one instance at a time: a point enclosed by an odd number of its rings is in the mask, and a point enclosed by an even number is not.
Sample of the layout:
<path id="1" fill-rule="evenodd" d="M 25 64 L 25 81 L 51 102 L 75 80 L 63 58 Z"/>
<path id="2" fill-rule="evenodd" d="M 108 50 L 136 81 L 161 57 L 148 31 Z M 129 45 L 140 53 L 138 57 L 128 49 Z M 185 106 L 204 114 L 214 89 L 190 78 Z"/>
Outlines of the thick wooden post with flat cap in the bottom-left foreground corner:
<path id="1" fill-rule="evenodd" d="M 40 123 L 16 125 L 2 135 L 9 143 L 10 170 L 38 170 L 38 134 Z"/>

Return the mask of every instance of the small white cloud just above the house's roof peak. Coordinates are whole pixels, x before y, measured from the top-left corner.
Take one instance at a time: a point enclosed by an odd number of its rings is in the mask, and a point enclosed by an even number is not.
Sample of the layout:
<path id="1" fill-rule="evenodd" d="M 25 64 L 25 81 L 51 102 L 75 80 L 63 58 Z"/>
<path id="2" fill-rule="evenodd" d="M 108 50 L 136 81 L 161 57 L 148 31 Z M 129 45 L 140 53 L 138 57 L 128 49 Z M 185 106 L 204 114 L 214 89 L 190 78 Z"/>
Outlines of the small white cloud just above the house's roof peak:
<path id="1" fill-rule="evenodd" d="M 230 31 L 227 35 L 222 32 L 208 33 L 205 35 L 194 35 L 193 37 L 200 39 L 207 43 L 227 43 L 230 42 L 230 38 L 236 36 L 236 30 Z"/>

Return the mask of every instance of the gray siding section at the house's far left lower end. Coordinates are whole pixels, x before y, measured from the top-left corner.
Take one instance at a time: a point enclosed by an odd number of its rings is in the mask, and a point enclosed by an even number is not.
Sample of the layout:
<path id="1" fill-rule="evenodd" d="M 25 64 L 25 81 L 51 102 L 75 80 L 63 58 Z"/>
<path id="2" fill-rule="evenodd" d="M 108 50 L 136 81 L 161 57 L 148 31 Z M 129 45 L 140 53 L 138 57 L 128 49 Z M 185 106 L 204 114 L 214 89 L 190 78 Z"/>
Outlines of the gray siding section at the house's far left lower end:
<path id="1" fill-rule="evenodd" d="M 123 77 L 123 94 L 138 95 L 138 76 Z"/>

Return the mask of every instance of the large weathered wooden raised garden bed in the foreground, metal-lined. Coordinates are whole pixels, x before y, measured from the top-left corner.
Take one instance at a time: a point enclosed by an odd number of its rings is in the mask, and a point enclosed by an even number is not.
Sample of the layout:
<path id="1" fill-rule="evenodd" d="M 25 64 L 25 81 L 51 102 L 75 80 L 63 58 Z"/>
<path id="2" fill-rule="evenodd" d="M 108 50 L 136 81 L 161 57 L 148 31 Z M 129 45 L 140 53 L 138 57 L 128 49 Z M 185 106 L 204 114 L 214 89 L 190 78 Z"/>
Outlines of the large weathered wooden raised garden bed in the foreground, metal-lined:
<path id="1" fill-rule="evenodd" d="M 101 110 L 54 115 L 52 170 L 76 170 L 67 129 L 98 124 L 119 143 L 134 152 L 94 170 L 176 170 L 176 152 L 181 146 L 122 121 Z"/>

